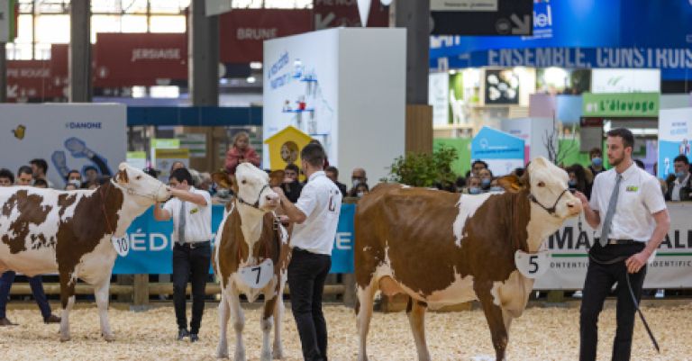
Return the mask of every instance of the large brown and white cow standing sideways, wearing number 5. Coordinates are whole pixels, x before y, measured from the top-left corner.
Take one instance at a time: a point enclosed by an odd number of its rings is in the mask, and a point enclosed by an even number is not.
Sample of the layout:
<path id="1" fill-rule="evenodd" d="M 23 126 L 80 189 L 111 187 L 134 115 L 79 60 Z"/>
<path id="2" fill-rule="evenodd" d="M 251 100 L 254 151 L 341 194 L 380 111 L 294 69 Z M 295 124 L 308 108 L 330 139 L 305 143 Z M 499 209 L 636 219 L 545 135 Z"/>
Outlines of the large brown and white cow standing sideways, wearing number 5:
<path id="1" fill-rule="evenodd" d="M 568 176 L 545 158 L 524 179 L 504 177 L 506 193 L 451 194 L 402 185 L 378 185 L 355 218 L 355 275 L 360 361 L 373 297 L 409 295 L 408 319 L 419 360 L 430 360 L 424 312 L 478 300 L 490 327 L 496 359 L 505 359 L 508 329 L 521 316 L 533 279 L 521 275 L 514 252 L 536 252 L 562 222 L 581 212 L 567 191 Z"/>

